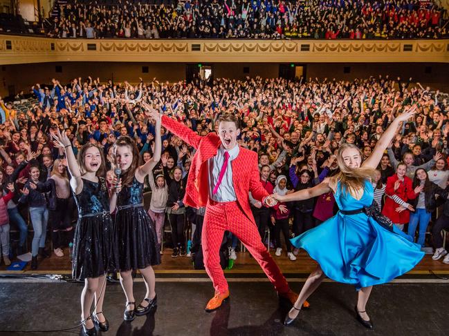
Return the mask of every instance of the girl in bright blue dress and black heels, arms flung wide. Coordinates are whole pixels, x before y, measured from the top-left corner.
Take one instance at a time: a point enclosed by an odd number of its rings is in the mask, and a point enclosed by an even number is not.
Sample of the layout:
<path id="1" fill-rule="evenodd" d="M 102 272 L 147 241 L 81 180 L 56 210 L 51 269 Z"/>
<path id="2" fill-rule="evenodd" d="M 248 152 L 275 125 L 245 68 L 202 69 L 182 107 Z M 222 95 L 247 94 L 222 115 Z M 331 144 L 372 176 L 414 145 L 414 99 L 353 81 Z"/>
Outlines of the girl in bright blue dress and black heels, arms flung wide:
<path id="1" fill-rule="evenodd" d="M 288 195 L 273 195 L 278 201 L 301 201 L 333 192 L 340 211 L 320 226 L 291 239 L 293 246 L 304 248 L 318 262 L 301 293 L 288 312 L 284 324 L 297 317 L 302 304 L 318 288 L 325 276 L 358 290 L 355 306 L 358 321 L 373 328 L 365 306 L 372 286 L 384 284 L 407 273 L 423 258 L 420 246 L 412 243 L 400 230 L 383 217 L 373 203 L 372 179 L 383 152 L 402 122 L 407 121 L 416 106 L 398 115 L 379 139 L 372 155 L 362 163 L 362 152 L 352 144 L 338 150 L 340 173 L 321 184 Z M 325 248 L 323 248 L 325 246 Z"/>

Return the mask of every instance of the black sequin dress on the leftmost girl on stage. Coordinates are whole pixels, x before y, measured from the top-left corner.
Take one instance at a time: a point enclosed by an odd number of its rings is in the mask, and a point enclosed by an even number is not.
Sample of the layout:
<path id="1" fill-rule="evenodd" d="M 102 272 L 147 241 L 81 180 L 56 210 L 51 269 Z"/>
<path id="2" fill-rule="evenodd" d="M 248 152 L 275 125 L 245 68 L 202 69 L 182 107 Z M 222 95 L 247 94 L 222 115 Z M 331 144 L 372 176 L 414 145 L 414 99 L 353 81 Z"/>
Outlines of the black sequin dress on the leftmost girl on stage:
<path id="1" fill-rule="evenodd" d="M 118 262 L 112 246 L 113 223 L 106 181 L 102 177 L 98 183 L 82 181 L 82 192 L 74 195 L 79 216 L 73 241 L 72 275 L 75 279 L 100 277 L 113 271 Z"/>

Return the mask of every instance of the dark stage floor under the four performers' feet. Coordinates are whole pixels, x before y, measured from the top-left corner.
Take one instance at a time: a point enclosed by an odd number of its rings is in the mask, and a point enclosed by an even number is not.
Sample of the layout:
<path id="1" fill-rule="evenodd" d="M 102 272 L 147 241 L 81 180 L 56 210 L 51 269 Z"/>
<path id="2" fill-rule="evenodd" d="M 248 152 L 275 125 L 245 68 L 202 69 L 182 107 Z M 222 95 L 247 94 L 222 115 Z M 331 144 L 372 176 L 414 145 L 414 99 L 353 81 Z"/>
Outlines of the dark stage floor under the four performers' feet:
<path id="1" fill-rule="evenodd" d="M 367 311 L 375 330 L 356 322 L 354 287 L 325 282 L 312 295 L 311 309 L 303 310 L 293 326 L 282 321 L 288 307 L 282 306 L 271 284 L 262 279 L 230 281 L 230 301 L 213 313 L 203 307 L 212 286 L 203 279 L 158 278 L 155 313 L 123 322 L 125 296 L 119 284 L 108 284 L 104 313 L 110 330 L 101 335 L 447 335 L 449 329 L 447 281 L 387 284 L 376 286 Z M 243 280 L 243 279 L 242 279 Z M 260 281 L 259 281 L 260 280 Z M 42 282 L 37 279 L 0 280 L 0 335 L 80 335 L 80 328 L 54 333 L 12 333 L 14 330 L 55 330 L 69 328 L 80 319 L 80 283 Z M 445 282 L 445 283 L 444 283 Z M 291 281 L 294 290 L 302 286 Z M 145 287 L 136 279 L 136 301 Z"/>

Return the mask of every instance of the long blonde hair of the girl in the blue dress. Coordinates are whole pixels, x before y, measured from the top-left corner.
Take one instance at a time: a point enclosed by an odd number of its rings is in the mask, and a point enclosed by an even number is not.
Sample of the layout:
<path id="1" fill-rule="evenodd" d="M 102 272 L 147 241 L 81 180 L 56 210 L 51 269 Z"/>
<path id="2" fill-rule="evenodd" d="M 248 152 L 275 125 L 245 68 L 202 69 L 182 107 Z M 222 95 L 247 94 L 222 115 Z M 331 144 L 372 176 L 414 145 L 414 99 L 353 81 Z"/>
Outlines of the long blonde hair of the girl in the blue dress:
<path id="1" fill-rule="evenodd" d="M 342 144 L 338 149 L 337 153 L 337 163 L 340 168 L 340 172 L 333 177 L 335 183 L 340 182 L 342 190 L 348 190 L 351 195 L 356 195 L 357 191 L 364 188 L 365 180 L 374 179 L 376 170 L 374 168 L 349 168 L 345 164 L 343 159 L 343 152 L 347 149 L 355 149 L 360 154 L 360 159 L 363 157 L 363 153 L 356 145 L 353 144 Z"/>

